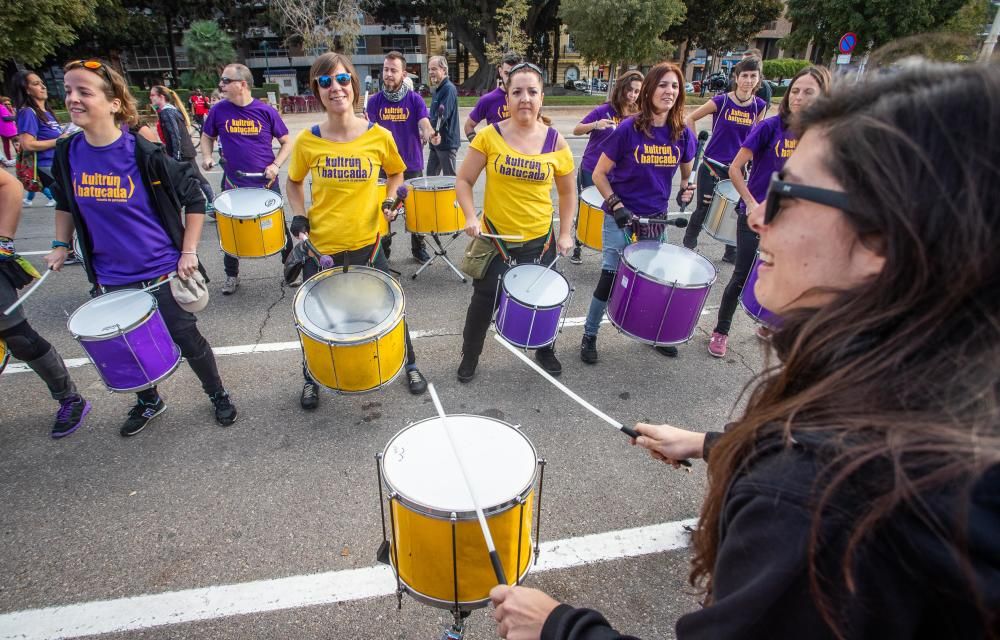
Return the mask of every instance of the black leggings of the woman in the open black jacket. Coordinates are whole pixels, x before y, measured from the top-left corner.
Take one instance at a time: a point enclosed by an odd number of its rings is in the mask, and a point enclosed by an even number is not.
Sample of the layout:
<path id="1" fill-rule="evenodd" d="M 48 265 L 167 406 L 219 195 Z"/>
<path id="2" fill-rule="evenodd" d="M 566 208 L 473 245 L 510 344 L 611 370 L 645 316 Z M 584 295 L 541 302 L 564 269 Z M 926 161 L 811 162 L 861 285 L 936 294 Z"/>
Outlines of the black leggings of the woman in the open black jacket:
<path id="1" fill-rule="evenodd" d="M 149 280 L 131 284 L 106 285 L 103 289 L 105 293 L 121 289 L 142 289 L 152 282 Z M 152 289 L 150 293 L 156 298 L 160 315 L 163 317 L 164 324 L 167 325 L 167 331 L 170 332 L 170 338 L 180 347 L 181 355 L 187 359 L 191 370 L 198 376 L 201 388 L 208 395 L 224 391 L 225 388 L 219 377 L 219 368 L 215 363 L 212 347 L 208 344 L 205 336 L 198 331 L 198 318 L 177 304 L 169 284 Z M 157 397 L 159 397 L 156 387 L 140 391 L 136 395 L 146 404 L 156 402 Z"/>

